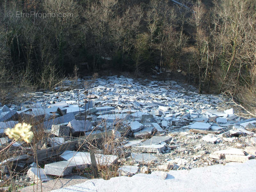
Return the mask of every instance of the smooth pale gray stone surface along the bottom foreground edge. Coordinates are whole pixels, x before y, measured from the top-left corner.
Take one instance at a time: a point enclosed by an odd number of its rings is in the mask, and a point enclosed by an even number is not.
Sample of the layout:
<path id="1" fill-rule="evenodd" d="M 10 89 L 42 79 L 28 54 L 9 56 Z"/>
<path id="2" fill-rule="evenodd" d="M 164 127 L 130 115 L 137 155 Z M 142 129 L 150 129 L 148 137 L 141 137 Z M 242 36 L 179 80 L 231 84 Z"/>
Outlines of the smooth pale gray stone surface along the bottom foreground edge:
<path id="1" fill-rule="evenodd" d="M 114 177 L 110 180 L 93 179 L 52 192 L 251 192 L 256 188 L 256 160 L 245 163 L 227 163 L 189 171 L 169 171 L 166 179 L 139 173 L 132 177 Z"/>

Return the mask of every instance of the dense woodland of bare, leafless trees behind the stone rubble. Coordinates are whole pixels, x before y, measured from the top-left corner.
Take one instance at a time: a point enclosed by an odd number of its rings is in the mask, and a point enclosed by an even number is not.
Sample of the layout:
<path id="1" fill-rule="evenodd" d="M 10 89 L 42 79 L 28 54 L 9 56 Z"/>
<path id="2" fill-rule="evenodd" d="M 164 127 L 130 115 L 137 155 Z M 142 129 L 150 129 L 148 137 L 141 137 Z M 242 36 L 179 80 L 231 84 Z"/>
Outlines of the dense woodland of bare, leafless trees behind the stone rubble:
<path id="1" fill-rule="evenodd" d="M 163 78 L 180 69 L 200 93 L 224 92 L 255 110 L 255 0 L 179 3 L 2 0 L 2 101 L 8 93 L 13 96 L 10 90 L 54 88 L 59 78 L 72 75 L 74 69 L 81 75 L 111 69 L 132 72 L 135 77 L 160 73 Z M 17 12 L 72 15 L 17 17 Z"/>

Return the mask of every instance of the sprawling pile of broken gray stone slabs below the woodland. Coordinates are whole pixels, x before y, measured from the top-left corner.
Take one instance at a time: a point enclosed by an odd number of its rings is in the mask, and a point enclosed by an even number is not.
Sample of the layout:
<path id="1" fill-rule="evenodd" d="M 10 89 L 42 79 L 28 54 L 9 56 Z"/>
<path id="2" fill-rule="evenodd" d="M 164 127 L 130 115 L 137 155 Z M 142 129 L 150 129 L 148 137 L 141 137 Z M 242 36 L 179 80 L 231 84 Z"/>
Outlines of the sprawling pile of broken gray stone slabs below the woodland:
<path id="1" fill-rule="evenodd" d="M 19 106 L 0 107 L 2 145 L 10 142 L 4 134 L 6 128 L 33 119 L 38 128 L 43 127 L 51 135 L 37 144 L 37 150 L 66 147 L 54 153 L 61 161 L 48 163 L 44 169 L 31 165 L 27 175 L 32 181 L 49 181 L 91 165 L 90 153 L 77 152 L 78 141 L 71 138 L 86 140 L 106 133 L 114 139 L 103 146 L 109 154 L 96 152 L 96 163 L 119 163 L 120 176 L 255 158 L 256 118 L 238 117 L 232 108 L 218 110 L 219 96 L 197 94 L 193 86 L 175 81 L 111 76 L 87 80 L 86 89 L 81 88 L 83 80 L 78 82 L 79 89 L 30 93 L 30 99 Z M 16 143 L 13 147 L 22 145 Z M 120 151 L 126 153 L 123 158 Z M 29 163 L 29 158 L 27 155 L 22 160 Z"/>

